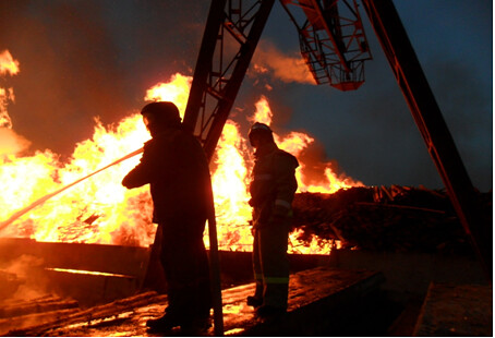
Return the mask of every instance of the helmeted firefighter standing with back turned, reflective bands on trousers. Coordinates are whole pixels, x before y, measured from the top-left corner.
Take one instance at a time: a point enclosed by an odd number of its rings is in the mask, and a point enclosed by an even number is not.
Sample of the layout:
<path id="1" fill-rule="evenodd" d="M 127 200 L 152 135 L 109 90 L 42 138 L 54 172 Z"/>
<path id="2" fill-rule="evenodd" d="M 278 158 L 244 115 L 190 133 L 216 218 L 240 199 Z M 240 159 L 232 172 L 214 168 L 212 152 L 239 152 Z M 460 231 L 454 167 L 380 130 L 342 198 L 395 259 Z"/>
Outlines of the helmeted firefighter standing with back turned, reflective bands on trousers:
<path id="1" fill-rule="evenodd" d="M 269 317 L 287 312 L 287 246 L 299 164 L 294 156 L 278 148 L 268 125 L 254 123 L 249 137 L 255 148 L 250 205 L 256 289 L 254 295 L 247 297 L 247 304 L 256 307 L 258 316 Z"/>

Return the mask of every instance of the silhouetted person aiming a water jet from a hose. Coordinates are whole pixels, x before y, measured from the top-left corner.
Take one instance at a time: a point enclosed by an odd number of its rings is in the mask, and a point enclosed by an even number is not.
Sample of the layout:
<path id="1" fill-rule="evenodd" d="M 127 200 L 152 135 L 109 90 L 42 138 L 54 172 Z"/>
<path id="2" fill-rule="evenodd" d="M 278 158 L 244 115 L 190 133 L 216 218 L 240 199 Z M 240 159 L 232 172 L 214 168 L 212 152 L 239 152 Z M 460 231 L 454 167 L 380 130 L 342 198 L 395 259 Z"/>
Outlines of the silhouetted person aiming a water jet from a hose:
<path id="1" fill-rule="evenodd" d="M 141 162 L 122 180 L 128 188 L 149 183 L 153 221 L 161 229 L 160 262 L 167 282 L 165 315 L 149 319 L 150 331 L 206 329 L 210 326 L 209 267 L 203 231 L 213 202 L 208 162 L 200 142 L 182 129 L 179 110 L 168 101 L 142 111 L 152 135 Z"/>

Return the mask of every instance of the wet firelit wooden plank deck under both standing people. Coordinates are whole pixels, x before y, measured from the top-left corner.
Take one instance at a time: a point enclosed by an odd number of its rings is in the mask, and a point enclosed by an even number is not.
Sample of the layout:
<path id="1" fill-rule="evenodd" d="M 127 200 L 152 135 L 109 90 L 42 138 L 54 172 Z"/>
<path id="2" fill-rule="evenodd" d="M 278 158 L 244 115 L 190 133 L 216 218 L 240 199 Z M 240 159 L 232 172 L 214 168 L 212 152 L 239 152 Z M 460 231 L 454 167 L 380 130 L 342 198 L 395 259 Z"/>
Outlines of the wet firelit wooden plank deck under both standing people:
<path id="1" fill-rule="evenodd" d="M 366 270 L 343 270 L 330 267 L 307 269 L 290 276 L 288 314 L 277 321 L 261 321 L 246 305 L 254 283 L 222 291 L 225 334 L 229 336 L 311 336 L 315 329 L 331 322 L 347 307 L 352 311 L 363 297 L 377 290 L 383 275 Z M 167 305 L 165 295 L 155 292 L 95 306 L 51 324 L 10 331 L 15 336 L 92 336 L 117 334 L 130 337 L 153 336 L 146 321 L 158 317 Z M 180 335 L 174 330 L 168 336 Z M 207 333 L 214 335 L 214 328 Z"/>

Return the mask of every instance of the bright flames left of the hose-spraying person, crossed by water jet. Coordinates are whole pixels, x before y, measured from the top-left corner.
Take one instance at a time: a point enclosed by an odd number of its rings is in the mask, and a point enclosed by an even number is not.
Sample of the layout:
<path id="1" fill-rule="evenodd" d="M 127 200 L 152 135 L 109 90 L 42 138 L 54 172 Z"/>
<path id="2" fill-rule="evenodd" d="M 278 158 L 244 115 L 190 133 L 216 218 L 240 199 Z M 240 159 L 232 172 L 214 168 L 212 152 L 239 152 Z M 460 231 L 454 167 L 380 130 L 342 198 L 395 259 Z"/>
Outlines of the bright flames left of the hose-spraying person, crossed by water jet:
<path id="1" fill-rule="evenodd" d="M 11 182 L 11 191 L 0 197 L 2 205 L 8 206 L 0 212 L 1 218 L 137 148 L 149 137 L 141 124 L 138 114 L 122 120 L 117 128 L 106 129 L 96 120 L 93 138 L 77 144 L 65 165 L 49 150 L 32 157 L 2 158 L 0 177 Z M 150 244 L 154 229 L 144 215 L 152 208 L 148 191 L 128 191 L 120 183 L 124 172 L 137 161 L 138 158 L 129 159 L 74 185 L 21 217 L 2 234 L 50 242 Z"/>

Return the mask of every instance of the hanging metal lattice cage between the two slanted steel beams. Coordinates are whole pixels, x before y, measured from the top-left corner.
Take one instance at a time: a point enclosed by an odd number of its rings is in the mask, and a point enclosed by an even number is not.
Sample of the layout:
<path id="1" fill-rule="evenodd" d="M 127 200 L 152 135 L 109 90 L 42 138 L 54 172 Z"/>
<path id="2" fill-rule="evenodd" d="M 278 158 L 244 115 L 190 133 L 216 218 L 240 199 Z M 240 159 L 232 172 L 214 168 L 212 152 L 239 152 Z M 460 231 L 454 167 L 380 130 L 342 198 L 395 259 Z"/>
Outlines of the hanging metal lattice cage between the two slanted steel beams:
<path id="1" fill-rule="evenodd" d="M 355 0 L 280 0 L 299 33 L 301 55 L 317 84 L 340 90 L 364 83 L 371 60 Z"/>

